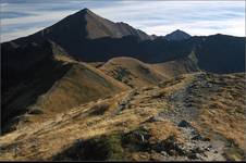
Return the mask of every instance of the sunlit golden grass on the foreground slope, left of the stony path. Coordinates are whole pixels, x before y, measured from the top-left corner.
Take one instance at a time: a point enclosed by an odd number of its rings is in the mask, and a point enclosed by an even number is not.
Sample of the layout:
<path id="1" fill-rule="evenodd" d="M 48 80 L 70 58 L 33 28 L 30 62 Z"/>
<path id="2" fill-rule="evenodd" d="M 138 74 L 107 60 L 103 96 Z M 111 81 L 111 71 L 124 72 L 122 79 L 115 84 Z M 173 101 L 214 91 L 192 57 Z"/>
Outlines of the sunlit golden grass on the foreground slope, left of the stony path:
<path id="1" fill-rule="evenodd" d="M 0 155 L 1 160 L 46 160 L 78 138 L 88 139 L 114 131 L 130 131 L 158 112 L 151 108 L 135 108 L 126 109 L 121 114 L 114 115 L 114 106 L 118 101 L 127 95 L 126 91 L 111 99 L 74 108 L 65 113 L 57 114 L 56 118 L 33 123 L 26 128 L 1 137 L 0 142 L 4 147 L 13 142 L 20 147 L 17 155 L 15 155 L 13 148 L 10 148 L 9 151 L 7 150 Z M 100 103 L 110 103 L 109 110 L 103 115 L 89 116 L 91 108 Z"/>

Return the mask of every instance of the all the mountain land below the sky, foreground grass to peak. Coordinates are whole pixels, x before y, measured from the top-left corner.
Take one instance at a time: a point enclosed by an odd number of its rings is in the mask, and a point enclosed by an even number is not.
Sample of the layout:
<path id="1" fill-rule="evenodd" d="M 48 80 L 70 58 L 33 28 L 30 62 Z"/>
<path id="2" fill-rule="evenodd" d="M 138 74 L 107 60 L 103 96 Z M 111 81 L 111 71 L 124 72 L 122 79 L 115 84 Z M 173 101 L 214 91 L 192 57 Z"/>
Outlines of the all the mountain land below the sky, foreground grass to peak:
<path id="1" fill-rule="evenodd" d="M 1 43 L 0 160 L 245 160 L 245 38 L 176 33 L 84 9 Z"/>

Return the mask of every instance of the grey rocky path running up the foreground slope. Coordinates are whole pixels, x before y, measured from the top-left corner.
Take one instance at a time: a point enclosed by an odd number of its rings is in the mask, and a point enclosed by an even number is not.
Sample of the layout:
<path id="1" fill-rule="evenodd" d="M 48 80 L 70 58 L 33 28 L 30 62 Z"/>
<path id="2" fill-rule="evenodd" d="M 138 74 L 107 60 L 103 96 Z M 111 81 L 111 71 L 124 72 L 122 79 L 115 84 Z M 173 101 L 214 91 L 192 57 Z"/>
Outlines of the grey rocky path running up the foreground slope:
<path id="1" fill-rule="evenodd" d="M 185 139 L 185 143 L 181 148 L 188 154 L 180 155 L 180 158 L 175 159 L 167 155 L 165 160 L 225 160 L 223 156 L 224 142 L 218 140 L 214 145 L 210 139 L 201 136 L 192 125 L 193 122 L 199 118 L 199 106 L 206 102 L 208 89 L 213 89 L 214 91 L 218 87 L 207 83 L 202 74 L 197 75 L 183 89 L 174 91 L 168 97 L 173 106 L 172 110 L 160 112 L 153 117 L 156 121 L 169 120 L 173 122 Z"/>

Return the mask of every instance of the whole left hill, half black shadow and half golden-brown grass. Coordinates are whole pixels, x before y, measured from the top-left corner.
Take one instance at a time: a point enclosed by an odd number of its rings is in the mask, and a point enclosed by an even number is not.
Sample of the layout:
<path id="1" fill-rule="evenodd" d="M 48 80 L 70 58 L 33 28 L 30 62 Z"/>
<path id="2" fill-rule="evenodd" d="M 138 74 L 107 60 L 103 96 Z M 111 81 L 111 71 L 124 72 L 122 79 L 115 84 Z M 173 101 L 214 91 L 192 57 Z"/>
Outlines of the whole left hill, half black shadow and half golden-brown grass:
<path id="1" fill-rule="evenodd" d="M 23 116 L 25 113 L 53 116 L 81 103 L 127 89 L 102 72 L 67 57 L 53 42 L 27 47 L 17 50 L 27 51 L 20 62 L 17 58 L 3 59 L 3 131 L 14 129 L 20 120 L 27 121 L 28 115 Z M 35 54 L 36 58 L 32 58 Z"/>

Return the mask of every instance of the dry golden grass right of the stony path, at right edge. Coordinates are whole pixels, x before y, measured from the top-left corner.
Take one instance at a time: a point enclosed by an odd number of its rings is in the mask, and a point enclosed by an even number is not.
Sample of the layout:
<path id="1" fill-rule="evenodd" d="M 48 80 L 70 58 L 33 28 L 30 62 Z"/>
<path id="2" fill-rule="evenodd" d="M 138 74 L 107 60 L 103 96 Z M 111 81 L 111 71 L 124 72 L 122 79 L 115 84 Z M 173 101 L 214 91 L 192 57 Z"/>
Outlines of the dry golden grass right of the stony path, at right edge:
<path id="1" fill-rule="evenodd" d="M 210 100 L 201 108 L 200 129 L 204 131 L 210 129 L 212 133 L 219 133 L 246 151 L 244 75 L 224 75 L 220 83 L 225 83 L 226 85 L 221 87 L 219 91 L 210 93 Z"/>

